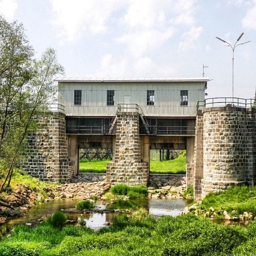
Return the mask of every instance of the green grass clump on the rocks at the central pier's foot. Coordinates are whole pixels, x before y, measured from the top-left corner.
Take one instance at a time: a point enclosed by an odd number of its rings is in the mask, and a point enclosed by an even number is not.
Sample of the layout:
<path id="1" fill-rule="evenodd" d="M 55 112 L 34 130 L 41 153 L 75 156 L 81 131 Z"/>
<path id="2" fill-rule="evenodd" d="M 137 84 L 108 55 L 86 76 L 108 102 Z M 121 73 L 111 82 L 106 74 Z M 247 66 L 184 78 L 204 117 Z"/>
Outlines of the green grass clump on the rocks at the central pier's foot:
<path id="1" fill-rule="evenodd" d="M 114 195 L 129 196 L 130 198 L 145 198 L 148 195 L 148 188 L 143 185 L 116 184 L 110 188 L 110 192 Z"/>

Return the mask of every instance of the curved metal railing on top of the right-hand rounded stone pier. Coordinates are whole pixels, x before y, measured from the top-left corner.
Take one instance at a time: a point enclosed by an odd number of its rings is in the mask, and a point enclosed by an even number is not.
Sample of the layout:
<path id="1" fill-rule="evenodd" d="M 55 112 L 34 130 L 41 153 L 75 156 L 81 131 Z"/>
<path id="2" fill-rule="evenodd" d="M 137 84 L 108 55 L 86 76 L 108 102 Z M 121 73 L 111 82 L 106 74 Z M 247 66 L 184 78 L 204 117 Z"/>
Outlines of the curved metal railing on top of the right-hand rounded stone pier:
<path id="1" fill-rule="evenodd" d="M 218 97 L 208 98 L 204 101 L 198 101 L 196 105 L 197 110 L 210 107 L 239 107 L 249 108 L 255 105 L 254 99 L 232 98 L 232 97 Z"/>

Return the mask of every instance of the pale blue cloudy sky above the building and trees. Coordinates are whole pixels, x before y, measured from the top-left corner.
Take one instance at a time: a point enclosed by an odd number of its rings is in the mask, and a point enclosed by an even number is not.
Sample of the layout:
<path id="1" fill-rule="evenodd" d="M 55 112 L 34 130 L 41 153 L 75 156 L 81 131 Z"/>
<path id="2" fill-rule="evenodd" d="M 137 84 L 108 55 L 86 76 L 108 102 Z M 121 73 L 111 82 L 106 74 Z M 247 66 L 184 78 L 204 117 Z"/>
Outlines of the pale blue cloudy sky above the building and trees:
<path id="1" fill-rule="evenodd" d="M 256 0 L 0 0 L 40 58 L 57 51 L 68 77 L 202 77 L 212 97 L 254 98 Z"/>

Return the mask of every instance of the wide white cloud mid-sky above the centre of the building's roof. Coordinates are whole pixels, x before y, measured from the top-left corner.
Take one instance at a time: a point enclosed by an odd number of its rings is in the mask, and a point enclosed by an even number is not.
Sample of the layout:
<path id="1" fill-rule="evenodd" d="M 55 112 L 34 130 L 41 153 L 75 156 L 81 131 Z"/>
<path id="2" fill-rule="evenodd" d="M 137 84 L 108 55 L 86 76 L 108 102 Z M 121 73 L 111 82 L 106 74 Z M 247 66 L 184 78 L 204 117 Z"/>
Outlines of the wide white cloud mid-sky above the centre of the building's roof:
<path id="1" fill-rule="evenodd" d="M 174 32 L 172 27 L 166 28 L 164 31 L 156 29 L 139 30 L 133 33 L 124 34 L 115 40 L 127 45 L 128 50 L 134 56 L 141 56 L 160 47 L 168 40 Z"/>

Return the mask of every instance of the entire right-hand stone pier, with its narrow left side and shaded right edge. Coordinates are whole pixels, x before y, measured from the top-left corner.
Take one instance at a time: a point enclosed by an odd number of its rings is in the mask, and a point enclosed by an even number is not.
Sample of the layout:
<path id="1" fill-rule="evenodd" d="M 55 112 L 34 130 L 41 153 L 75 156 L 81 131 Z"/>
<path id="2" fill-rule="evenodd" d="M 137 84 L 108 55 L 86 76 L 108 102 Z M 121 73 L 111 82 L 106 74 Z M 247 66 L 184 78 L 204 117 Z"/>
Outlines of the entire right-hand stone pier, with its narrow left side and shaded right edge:
<path id="1" fill-rule="evenodd" d="M 199 110 L 196 117 L 194 198 L 232 185 L 255 184 L 256 109 Z"/>

